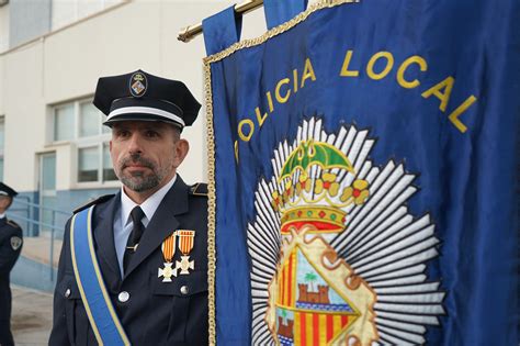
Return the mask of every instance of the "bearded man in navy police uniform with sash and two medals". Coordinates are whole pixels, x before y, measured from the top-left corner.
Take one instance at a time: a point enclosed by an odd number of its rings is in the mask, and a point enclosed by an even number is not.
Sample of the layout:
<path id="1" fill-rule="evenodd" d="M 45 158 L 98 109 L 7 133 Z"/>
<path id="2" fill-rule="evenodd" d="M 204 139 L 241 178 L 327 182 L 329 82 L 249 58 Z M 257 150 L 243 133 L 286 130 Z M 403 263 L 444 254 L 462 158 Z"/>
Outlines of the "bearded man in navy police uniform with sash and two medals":
<path id="1" fill-rule="evenodd" d="M 205 345 L 207 191 L 177 174 L 189 150 L 180 134 L 201 105 L 184 83 L 143 70 L 100 78 L 93 103 L 108 115 L 122 188 L 67 222 L 49 345 L 97 345 L 105 324 L 132 345 Z M 78 220 L 89 210 L 87 225 Z M 76 241 L 84 232 L 92 244 Z M 78 256 L 82 246 L 94 255 Z M 100 275 L 81 271 L 84 257 L 98 261 Z M 98 297 L 108 308 L 89 298 L 103 284 L 106 295 Z M 98 309 L 110 312 L 106 321 L 97 321 Z"/>

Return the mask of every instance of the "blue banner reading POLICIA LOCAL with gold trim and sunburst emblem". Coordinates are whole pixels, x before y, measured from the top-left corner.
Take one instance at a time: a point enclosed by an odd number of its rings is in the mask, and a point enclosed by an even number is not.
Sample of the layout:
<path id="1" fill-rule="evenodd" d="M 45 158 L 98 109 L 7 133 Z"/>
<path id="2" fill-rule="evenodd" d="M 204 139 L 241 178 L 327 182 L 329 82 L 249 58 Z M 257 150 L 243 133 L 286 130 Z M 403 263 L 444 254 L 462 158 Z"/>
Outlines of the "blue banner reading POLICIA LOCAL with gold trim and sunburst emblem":
<path id="1" fill-rule="evenodd" d="M 519 5 L 327 1 L 205 59 L 218 345 L 518 344 Z"/>

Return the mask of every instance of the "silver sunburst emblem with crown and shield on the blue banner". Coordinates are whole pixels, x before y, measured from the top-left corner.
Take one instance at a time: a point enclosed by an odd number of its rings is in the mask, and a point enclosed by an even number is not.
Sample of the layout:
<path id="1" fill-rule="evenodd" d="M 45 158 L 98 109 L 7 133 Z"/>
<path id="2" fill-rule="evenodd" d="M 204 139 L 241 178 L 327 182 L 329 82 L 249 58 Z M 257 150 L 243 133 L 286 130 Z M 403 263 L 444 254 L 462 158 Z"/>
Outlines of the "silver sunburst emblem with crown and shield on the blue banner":
<path id="1" fill-rule="evenodd" d="M 274 150 L 248 227 L 255 345 L 423 344 L 439 324 L 434 225 L 406 207 L 415 175 L 369 159 L 374 143 L 312 118 Z"/>

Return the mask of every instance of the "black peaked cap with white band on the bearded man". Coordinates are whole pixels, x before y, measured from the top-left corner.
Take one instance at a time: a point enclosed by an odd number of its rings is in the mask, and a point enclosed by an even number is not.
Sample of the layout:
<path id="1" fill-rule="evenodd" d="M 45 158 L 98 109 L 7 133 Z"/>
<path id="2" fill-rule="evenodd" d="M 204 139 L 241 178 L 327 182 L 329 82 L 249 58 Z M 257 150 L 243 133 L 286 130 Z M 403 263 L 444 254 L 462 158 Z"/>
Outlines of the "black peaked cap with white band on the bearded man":
<path id="1" fill-rule="evenodd" d="M 117 121 L 143 120 L 172 123 L 182 130 L 195 121 L 201 109 L 182 81 L 140 69 L 100 78 L 93 103 L 108 115 L 104 122 L 108 126 Z"/>

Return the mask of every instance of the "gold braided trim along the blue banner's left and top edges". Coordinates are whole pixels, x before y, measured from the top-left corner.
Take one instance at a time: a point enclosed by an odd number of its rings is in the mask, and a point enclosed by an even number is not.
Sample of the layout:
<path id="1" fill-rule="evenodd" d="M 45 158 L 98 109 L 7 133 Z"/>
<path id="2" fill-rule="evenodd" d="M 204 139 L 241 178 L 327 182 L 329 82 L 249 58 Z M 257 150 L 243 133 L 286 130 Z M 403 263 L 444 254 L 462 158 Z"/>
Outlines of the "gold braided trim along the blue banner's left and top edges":
<path id="1" fill-rule="evenodd" d="M 208 305 L 208 344 L 216 345 L 216 312 L 215 312 L 215 270 L 216 270 L 216 247 L 215 247 L 215 227 L 216 227 L 216 188 L 215 188 L 215 132 L 213 126 L 213 93 L 212 93 L 212 69 L 211 64 L 219 62 L 233 53 L 260 45 L 276 35 L 280 35 L 293 26 L 305 21 L 310 13 L 325 8 L 332 8 L 357 0 L 321 0 L 319 3 L 310 5 L 305 12 L 299 13 L 294 19 L 276 27 L 271 29 L 262 36 L 251 40 L 237 42 L 228 48 L 205 57 L 204 63 L 204 89 L 206 104 L 206 127 L 207 127 L 207 305 Z"/>

